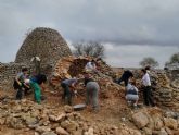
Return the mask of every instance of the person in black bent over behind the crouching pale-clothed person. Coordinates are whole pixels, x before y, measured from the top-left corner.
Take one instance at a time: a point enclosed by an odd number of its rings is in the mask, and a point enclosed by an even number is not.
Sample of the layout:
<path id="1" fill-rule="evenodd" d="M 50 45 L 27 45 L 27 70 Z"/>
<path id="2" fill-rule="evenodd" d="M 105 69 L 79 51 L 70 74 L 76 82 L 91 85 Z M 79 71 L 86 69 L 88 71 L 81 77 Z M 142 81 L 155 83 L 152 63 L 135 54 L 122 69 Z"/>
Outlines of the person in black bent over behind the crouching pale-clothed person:
<path id="1" fill-rule="evenodd" d="M 133 74 L 131 71 L 129 71 L 129 70 L 124 71 L 123 75 L 117 81 L 117 83 L 120 84 L 122 82 L 125 82 L 125 87 L 127 87 L 129 78 L 131 78 L 131 77 L 133 77 Z"/>

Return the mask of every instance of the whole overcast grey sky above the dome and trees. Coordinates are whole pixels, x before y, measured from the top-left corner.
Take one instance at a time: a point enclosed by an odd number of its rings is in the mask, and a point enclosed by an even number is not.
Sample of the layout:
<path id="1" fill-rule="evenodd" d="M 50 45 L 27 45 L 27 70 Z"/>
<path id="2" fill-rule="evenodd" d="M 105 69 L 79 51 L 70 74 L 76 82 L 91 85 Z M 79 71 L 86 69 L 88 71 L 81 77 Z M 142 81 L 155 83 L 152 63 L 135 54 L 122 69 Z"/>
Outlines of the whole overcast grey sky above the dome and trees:
<path id="1" fill-rule="evenodd" d="M 68 42 L 104 44 L 113 66 L 179 52 L 179 0 L 0 0 L 0 62 L 14 61 L 26 33 L 51 27 Z"/>

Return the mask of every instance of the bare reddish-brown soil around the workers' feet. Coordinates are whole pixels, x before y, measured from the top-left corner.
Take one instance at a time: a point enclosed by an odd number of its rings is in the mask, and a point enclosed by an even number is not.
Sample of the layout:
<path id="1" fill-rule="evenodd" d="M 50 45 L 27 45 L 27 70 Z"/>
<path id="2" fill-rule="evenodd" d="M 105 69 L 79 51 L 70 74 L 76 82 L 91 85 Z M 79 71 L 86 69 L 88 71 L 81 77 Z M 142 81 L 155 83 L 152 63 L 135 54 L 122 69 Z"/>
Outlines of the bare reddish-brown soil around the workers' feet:
<path id="1" fill-rule="evenodd" d="M 0 90 L 0 97 L 10 96 L 15 97 L 15 90 Z M 132 109 L 129 108 L 126 103 L 126 100 L 123 97 L 123 91 L 120 94 L 114 93 L 110 94 L 107 98 L 100 96 L 100 110 L 93 112 L 91 107 L 88 107 L 81 111 L 78 111 L 87 121 L 97 126 L 107 126 L 114 125 L 115 127 L 120 127 L 122 125 L 127 125 L 129 127 L 136 128 L 136 126 L 130 122 L 130 114 Z M 64 102 L 61 100 L 61 94 L 56 90 L 49 90 L 48 88 L 42 91 L 43 96 L 47 97 L 41 103 L 50 105 L 51 107 L 59 108 L 63 110 Z M 34 100 L 33 93 L 24 97 L 29 100 Z M 14 98 L 15 100 L 15 98 Z M 85 103 L 85 96 L 74 97 L 74 105 Z M 28 128 L 24 130 L 13 130 L 7 127 L 5 125 L 0 127 L 0 135 L 34 135 L 34 131 Z"/>

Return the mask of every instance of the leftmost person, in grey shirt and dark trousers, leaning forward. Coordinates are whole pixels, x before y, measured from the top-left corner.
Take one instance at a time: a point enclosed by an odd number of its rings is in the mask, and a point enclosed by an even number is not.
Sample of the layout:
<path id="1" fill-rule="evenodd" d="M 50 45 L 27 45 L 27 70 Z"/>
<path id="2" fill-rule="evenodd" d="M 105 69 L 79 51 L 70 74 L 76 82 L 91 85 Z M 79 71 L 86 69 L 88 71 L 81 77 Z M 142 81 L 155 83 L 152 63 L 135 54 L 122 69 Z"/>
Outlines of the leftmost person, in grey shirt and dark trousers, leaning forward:
<path id="1" fill-rule="evenodd" d="M 14 89 L 17 90 L 16 93 L 16 99 L 21 100 L 23 97 L 23 89 L 25 90 L 25 95 L 27 94 L 27 91 L 30 89 L 28 85 L 26 85 L 24 83 L 24 81 L 28 77 L 28 69 L 27 68 L 23 68 L 22 71 L 20 73 L 17 73 L 15 79 L 14 79 L 14 84 L 13 87 Z"/>

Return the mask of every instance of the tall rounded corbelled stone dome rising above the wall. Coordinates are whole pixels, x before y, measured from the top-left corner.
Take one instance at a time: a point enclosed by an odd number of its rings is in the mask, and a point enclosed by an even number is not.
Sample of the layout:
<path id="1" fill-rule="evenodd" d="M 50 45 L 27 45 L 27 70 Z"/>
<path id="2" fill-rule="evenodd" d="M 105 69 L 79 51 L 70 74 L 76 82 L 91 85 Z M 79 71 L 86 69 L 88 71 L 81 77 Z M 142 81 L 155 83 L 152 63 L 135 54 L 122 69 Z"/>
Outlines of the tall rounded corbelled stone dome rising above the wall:
<path id="1" fill-rule="evenodd" d="M 48 64 L 67 56 L 72 52 L 57 30 L 38 27 L 24 40 L 15 62 L 29 64 L 33 57 L 39 57 L 42 64 Z"/>

